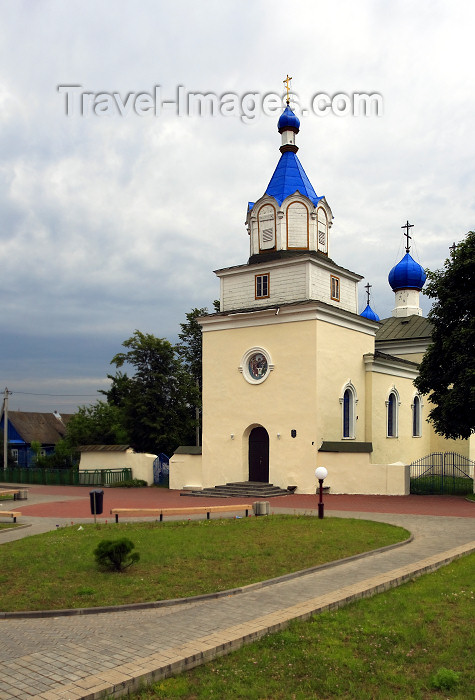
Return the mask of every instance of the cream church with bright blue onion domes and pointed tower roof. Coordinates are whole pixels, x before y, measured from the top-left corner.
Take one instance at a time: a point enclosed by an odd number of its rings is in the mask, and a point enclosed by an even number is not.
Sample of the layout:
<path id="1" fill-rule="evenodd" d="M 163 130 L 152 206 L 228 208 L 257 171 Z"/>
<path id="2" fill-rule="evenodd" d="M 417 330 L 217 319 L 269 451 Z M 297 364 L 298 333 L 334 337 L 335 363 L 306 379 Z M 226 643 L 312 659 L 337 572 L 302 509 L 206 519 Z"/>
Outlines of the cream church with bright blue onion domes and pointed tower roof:
<path id="1" fill-rule="evenodd" d="M 436 451 L 475 457 L 473 437 L 435 434 L 413 384 L 431 326 L 409 235 L 389 274 L 392 316 L 380 321 L 369 294 L 359 313 L 363 277 L 330 257 L 332 211 L 297 158 L 299 128 L 287 103 L 280 160 L 248 205 L 249 260 L 215 272 L 220 311 L 199 319 L 202 447 L 178 448 L 170 488 L 270 482 L 315 493 L 324 466 L 331 493 L 407 494 L 413 461 Z"/>

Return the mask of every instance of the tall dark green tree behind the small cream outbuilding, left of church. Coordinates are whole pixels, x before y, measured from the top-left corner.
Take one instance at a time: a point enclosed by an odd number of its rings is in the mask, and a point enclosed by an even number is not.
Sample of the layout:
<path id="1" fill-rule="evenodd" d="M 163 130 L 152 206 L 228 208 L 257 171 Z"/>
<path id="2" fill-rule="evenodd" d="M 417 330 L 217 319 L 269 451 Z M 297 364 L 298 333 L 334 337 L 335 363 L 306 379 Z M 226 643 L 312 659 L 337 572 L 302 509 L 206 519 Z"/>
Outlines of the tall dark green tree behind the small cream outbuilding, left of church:
<path id="1" fill-rule="evenodd" d="M 111 364 L 134 370 L 109 375 L 107 400 L 122 412 L 131 445 L 141 452 L 172 454 L 194 439 L 197 388 L 173 345 L 136 330 Z"/>

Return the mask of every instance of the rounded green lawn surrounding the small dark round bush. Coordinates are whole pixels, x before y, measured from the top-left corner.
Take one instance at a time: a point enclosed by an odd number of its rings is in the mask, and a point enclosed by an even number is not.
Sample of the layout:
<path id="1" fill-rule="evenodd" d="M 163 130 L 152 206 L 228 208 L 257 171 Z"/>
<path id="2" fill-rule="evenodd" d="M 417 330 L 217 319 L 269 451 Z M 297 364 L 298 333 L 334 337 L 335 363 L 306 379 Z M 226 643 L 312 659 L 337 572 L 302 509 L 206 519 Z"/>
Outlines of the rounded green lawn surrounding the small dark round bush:
<path id="1" fill-rule="evenodd" d="M 0 547 L 0 610 L 94 607 L 226 590 L 406 539 L 403 528 L 311 516 L 98 524 Z M 101 571 L 94 549 L 127 537 L 140 561 Z"/>

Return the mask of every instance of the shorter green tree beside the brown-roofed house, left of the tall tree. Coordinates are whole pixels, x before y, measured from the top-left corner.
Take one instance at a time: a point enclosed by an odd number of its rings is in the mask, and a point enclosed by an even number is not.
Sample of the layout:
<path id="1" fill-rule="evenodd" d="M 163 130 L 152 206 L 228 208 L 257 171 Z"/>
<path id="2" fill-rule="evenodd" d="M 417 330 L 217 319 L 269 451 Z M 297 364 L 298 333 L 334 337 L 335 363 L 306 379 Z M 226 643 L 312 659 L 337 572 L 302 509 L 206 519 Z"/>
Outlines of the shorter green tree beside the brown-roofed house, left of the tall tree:
<path id="1" fill-rule="evenodd" d="M 120 408 L 98 401 L 93 406 L 80 406 L 66 426 L 66 442 L 71 448 L 79 445 L 124 445 L 129 436 Z"/>

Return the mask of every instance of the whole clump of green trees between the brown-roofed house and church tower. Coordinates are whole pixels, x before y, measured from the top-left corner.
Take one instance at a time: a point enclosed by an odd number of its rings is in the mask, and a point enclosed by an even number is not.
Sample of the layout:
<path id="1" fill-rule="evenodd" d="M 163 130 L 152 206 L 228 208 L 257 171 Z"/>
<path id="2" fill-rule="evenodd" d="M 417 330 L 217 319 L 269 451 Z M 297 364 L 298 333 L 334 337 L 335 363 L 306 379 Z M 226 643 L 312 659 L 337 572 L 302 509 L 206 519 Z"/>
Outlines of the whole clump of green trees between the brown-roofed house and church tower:
<path id="1" fill-rule="evenodd" d="M 219 311 L 219 302 L 213 303 Z M 111 360 L 106 401 L 79 408 L 67 426 L 66 442 L 79 445 L 130 444 L 137 451 L 171 455 L 178 445 L 199 441 L 201 411 L 201 326 L 208 313 L 195 308 L 181 323 L 172 345 L 138 330 Z M 127 370 L 127 371 L 125 371 Z"/>

